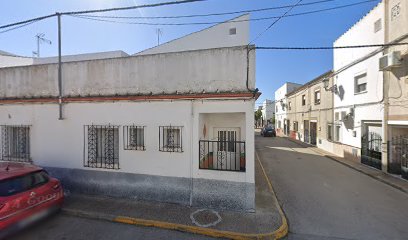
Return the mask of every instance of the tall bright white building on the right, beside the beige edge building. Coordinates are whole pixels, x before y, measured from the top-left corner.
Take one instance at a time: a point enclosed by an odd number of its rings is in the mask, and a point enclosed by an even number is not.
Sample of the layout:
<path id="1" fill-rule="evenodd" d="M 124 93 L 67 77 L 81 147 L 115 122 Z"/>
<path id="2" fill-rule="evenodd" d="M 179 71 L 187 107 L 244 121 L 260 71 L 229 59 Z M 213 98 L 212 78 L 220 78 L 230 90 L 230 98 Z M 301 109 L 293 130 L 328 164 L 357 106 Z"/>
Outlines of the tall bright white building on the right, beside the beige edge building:
<path id="1" fill-rule="evenodd" d="M 334 42 L 336 46 L 384 44 L 384 3 Z M 380 49 L 335 49 L 334 151 L 381 168 L 383 74 L 379 70 Z M 370 143 L 370 144 L 369 144 Z M 370 146 L 368 146 L 368 144 Z M 365 147 L 367 146 L 367 147 Z M 362 150 L 363 147 L 363 150 Z M 365 152 L 361 156 L 361 152 Z M 370 154 L 368 154 L 370 153 Z M 377 153 L 377 157 L 368 156 Z"/>

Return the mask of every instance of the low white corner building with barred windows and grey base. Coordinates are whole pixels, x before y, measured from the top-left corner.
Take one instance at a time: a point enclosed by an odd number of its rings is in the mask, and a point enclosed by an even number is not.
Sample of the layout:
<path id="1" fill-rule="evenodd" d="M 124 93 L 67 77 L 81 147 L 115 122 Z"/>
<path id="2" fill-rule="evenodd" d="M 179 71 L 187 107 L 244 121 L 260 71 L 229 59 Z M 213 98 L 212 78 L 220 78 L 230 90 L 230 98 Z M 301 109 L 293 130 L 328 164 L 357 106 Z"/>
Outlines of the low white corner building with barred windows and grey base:
<path id="1" fill-rule="evenodd" d="M 248 22 L 211 29 L 203 37 L 217 43 Z M 61 89 L 57 64 L 0 68 L 0 157 L 43 166 L 71 191 L 253 210 L 255 51 L 247 79 L 239 39 L 65 62 Z"/>

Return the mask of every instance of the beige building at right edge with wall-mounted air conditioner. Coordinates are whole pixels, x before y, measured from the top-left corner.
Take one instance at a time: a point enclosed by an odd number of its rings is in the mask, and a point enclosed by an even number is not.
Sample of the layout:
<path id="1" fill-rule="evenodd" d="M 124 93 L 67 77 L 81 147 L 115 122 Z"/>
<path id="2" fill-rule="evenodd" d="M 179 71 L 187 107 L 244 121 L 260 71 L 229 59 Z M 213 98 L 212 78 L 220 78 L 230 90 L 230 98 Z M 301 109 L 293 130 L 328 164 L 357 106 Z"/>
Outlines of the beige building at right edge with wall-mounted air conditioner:
<path id="1" fill-rule="evenodd" d="M 408 1 L 386 0 L 385 41 L 408 42 Z M 387 171 L 408 179 L 408 45 L 384 50 L 383 165 Z M 388 150 L 388 152 L 387 152 Z"/>

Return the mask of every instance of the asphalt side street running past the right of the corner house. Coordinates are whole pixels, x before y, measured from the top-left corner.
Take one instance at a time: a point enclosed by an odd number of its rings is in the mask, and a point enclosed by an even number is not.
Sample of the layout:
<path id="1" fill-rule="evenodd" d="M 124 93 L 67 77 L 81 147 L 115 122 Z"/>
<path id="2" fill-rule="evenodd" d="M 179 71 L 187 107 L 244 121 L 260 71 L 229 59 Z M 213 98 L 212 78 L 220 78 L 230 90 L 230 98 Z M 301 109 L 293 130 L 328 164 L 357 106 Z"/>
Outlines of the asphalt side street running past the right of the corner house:
<path id="1" fill-rule="evenodd" d="M 287 239 L 408 239 L 407 194 L 285 138 L 255 141 Z"/>

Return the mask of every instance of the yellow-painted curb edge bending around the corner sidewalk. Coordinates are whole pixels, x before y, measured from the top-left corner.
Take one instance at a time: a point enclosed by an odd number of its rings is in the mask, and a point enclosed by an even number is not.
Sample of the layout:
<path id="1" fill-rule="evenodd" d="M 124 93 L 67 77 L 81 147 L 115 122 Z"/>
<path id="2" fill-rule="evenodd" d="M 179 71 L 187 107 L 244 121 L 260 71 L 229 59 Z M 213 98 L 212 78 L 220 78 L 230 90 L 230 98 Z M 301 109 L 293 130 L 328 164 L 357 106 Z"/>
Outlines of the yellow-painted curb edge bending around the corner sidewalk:
<path id="1" fill-rule="evenodd" d="M 268 188 L 275 196 L 275 192 L 273 191 L 271 181 L 266 175 L 265 169 L 262 165 L 262 162 L 259 160 L 259 156 L 256 151 L 255 151 L 255 155 L 261 166 L 266 182 L 268 183 Z M 217 229 L 189 226 L 189 225 L 170 223 L 170 222 L 146 220 L 146 219 L 140 219 L 140 218 L 131 218 L 131 217 L 125 217 L 125 216 L 118 216 L 114 218 L 112 221 L 117 222 L 117 223 L 124 223 L 124 224 L 131 224 L 131 225 L 138 225 L 138 226 L 145 226 L 145 227 L 157 227 L 157 228 L 168 229 L 168 230 L 177 230 L 177 231 L 182 231 L 182 232 L 189 232 L 189 233 L 201 234 L 201 235 L 206 235 L 210 237 L 218 237 L 218 238 L 230 238 L 230 239 L 237 239 L 237 240 L 241 240 L 241 239 L 242 240 L 244 239 L 280 239 L 280 238 L 285 237 L 286 234 L 288 233 L 288 222 L 286 220 L 285 214 L 283 213 L 282 208 L 279 205 L 277 199 L 275 201 L 275 204 L 278 209 L 279 215 L 281 216 L 282 225 L 276 231 L 271 232 L 271 233 L 261 233 L 261 234 L 238 233 L 238 232 L 222 231 L 222 230 L 217 230 Z"/>

